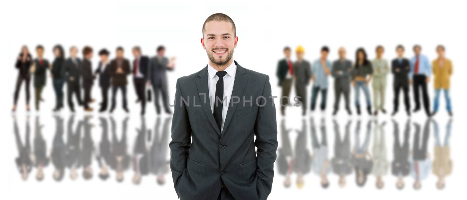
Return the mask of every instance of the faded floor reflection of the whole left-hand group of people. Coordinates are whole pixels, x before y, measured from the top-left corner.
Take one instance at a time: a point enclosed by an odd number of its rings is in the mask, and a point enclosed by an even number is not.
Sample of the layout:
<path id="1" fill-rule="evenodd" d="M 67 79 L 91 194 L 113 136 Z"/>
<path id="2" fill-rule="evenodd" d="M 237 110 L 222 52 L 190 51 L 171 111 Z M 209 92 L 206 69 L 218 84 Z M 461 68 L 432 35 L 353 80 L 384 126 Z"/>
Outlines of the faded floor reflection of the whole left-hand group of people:
<path id="1" fill-rule="evenodd" d="M 106 180 L 114 171 L 118 182 L 124 180 L 124 172 L 133 166 L 134 175 L 132 182 L 139 185 L 143 176 L 152 174 L 156 176 L 159 185 L 165 184 L 164 175 L 169 170 L 167 151 L 169 145 L 169 125 L 171 118 L 161 119 L 158 117 L 154 129 L 146 128 L 146 120 L 141 118 L 141 126 L 136 129 L 133 154 L 129 153 L 127 143 L 127 126 L 129 118 L 126 117 L 121 123 L 121 134 L 117 136 L 116 122 L 110 117 L 110 129 L 105 117 L 99 117 L 102 133 L 100 142 L 94 143 L 90 116 L 78 121 L 74 128 L 75 116 L 68 119 L 66 130 L 66 142 L 64 140 L 64 119 L 56 115 L 56 130 L 51 146 L 47 145 L 42 134 L 43 125 L 40 118 L 35 118 L 34 141 L 31 146 L 29 117 L 26 118 L 25 139 L 22 140 L 16 118 L 14 122 L 14 136 L 18 148 L 18 157 L 15 163 L 21 174 L 21 179 L 27 180 L 33 168 L 36 168 L 36 179 L 42 181 L 46 175 L 44 168 L 51 164 L 54 168 L 53 177 L 56 181 L 64 179 L 65 171 L 68 169 L 70 179 L 78 178 L 78 170 L 82 169 L 83 179 L 92 179 L 96 173 L 92 167 L 95 159 L 99 166 L 97 174 L 100 179 Z M 111 134 L 111 136 L 109 136 Z"/>

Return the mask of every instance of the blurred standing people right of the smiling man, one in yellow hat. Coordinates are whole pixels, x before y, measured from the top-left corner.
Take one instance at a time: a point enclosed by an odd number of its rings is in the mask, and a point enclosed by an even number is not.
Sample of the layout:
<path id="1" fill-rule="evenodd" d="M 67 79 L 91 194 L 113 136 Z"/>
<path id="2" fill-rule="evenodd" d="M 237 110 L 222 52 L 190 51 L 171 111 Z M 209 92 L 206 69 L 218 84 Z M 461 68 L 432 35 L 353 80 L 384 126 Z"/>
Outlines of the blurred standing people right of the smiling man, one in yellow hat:
<path id="1" fill-rule="evenodd" d="M 385 93 L 387 86 L 387 76 L 393 74 L 392 89 L 394 92 L 392 115 L 396 115 L 399 108 L 399 94 L 403 91 L 403 102 L 406 114 L 410 116 L 410 95 L 409 87 L 413 88 L 413 98 L 415 108 L 412 112 L 417 112 L 421 108 L 420 99 L 423 100 L 423 107 L 427 116 L 431 117 L 438 112 L 439 96 L 441 91 L 446 100 L 446 109 L 450 116 L 453 115 L 451 98 L 449 95 L 450 79 L 453 74 L 453 64 L 445 57 L 446 49 L 443 45 L 436 47 L 438 57 L 432 62 L 422 54 L 422 47 L 414 45 L 414 56 L 410 59 L 404 57 L 405 48 L 402 45 L 396 46 L 397 57 L 389 62 L 383 58 L 384 47 L 376 47 L 376 57 L 369 60 L 365 49 L 358 48 L 355 52 L 355 60 L 346 58 L 346 49 L 340 47 L 338 50 L 339 59 L 331 63 L 328 60 L 330 52 L 327 46 L 321 48 L 321 55 L 314 62 L 310 63 L 304 59 L 304 48 L 298 46 L 295 50 L 297 60 L 291 61 L 291 49 L 285 47 L 283 52 L 285 58 L 279 61 L 277 66 L 277 77 L 279 86 L 282 87 L 281 113 L 285 115 L 285 107 L 290 104 L 290 90 L 295 85 L 297 96 L 294 105 L 302 107 L 302 114 L 307 110 L 306 87 L 311 82 L 311 111 L 315 110 L 317 98 L 321 94 L 319 108 L 324 111 L 326 108 L 326 97 L 328 93 L 328 77 L 334 78 L 334 107 L 333 115 L 339 111 L 341 96 L 344 97 L 345 109 L 349 115 L 352 114 L 350 108 L 350 88 L 354 88 L 355 109 L 357 114 L 361 114 L 360 91 L 363 92 L 366 102 L 366 110 L 369 115 L 377 115 L 379 112 L 386 114 Z M 430 109 L 428 93 L 428 83 L 434 77 L 434 106 Z M 372 82 L 373 103 L 371 102 L 370 90 L 368 88 Z M 421 94 L 420 94 L 421 93 Z M 373 107 L 372 107 L 373 106 Z"/>

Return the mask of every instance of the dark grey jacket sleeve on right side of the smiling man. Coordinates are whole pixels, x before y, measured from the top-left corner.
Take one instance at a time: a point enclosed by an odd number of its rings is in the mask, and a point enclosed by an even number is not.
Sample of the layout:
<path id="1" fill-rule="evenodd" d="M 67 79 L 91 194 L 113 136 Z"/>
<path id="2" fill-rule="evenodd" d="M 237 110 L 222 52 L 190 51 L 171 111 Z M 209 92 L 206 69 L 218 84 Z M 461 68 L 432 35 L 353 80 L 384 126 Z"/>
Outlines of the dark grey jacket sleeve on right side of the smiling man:
<path id="1" fill-rule="evenodd" d="M 271 97 L 269 76 L 266 78 L 262 96 L 265 98 L 262 98 L 263 102 L 259 105 L 264 106 L 258 107 L 254 129 L 256 136 L 255 146 L 257 148 L 257 191 L 259 199 L 266 199 L 269 193 L 271 193 L 272 180 L 274 177 L 274 162 L 276 161 L 276 150 L 278 146 L 276 107 Z"/>

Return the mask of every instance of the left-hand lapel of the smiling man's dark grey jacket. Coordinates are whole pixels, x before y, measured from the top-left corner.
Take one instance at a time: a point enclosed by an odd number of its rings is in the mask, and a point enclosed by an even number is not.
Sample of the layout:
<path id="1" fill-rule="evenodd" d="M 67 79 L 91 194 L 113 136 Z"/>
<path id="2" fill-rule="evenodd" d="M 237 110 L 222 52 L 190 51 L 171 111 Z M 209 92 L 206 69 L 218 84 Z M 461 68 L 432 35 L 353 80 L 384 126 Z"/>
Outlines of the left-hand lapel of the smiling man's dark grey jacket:
<path id="1" fill-rule="evenodd" d="M 214 114 L 211 111 L 211 103 L 209 98 L 209 86 L 207 84 L 207 64 L 205 68 L 198 73 L 198 79 L 196 80 L 196 86 L 198 88 L 198 96 L 201 100 L 201 106 L 203 107 L 206 117 L 211 121 L 212 127 L 216 130 L 217 134 L 220 136 L 220 130 L 217 126 L 216 120 L 214 119 Z M 230 109 L 230 108 L 229 108 Z"/>

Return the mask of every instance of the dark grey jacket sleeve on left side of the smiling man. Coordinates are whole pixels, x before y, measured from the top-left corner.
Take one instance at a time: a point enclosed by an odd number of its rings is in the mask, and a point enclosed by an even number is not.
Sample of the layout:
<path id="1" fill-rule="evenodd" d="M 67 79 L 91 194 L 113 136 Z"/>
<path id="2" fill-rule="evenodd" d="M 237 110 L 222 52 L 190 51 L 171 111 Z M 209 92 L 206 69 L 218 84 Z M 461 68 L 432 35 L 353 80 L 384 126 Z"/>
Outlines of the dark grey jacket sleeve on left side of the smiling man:
<path id="1" fill-rule="evenodd" d="M 188 111 L 185 103 L 181 101 L 183 97 L 180 89 L 180 79 L 177 79 L 177 86 L 174 100 L 174 114 L 172 118 L 172 141 L 170 147 L 170 170 L 174 182 L 175 192 L 178 195 L 178 183 L 186 170 L 186 162 L 191 144 L 191 126 L 188 118 Z"/>

